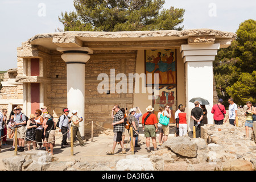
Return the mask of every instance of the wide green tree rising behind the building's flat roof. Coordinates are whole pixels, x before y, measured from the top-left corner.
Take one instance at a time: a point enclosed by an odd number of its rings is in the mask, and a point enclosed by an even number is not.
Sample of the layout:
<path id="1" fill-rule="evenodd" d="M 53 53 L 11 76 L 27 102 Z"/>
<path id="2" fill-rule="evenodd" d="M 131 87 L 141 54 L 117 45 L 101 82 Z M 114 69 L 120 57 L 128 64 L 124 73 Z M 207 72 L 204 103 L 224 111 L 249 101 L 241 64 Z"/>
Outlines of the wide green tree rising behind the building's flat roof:
<path id="1" fill-rule="evenodd" d="M 163 9 L 164 0 L 75 0 L 61 13 L 64 31 L 182 30 L 184 9 Z"/>

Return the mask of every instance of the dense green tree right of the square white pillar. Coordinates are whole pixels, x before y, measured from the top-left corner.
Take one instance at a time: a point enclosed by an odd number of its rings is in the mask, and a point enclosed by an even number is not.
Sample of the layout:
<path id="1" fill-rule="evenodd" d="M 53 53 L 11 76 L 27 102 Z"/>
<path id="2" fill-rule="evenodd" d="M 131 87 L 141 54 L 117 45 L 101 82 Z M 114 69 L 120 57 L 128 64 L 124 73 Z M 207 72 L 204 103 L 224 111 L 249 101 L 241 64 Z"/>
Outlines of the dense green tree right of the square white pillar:
<path id="1" fill-rule="evenodd" d="M 236 34 L 237 39 L 221 48 L 213 63 L 218 97 L 233 97 L 239 105 L 256 104 L 256 21 L 242 22 Z"/>

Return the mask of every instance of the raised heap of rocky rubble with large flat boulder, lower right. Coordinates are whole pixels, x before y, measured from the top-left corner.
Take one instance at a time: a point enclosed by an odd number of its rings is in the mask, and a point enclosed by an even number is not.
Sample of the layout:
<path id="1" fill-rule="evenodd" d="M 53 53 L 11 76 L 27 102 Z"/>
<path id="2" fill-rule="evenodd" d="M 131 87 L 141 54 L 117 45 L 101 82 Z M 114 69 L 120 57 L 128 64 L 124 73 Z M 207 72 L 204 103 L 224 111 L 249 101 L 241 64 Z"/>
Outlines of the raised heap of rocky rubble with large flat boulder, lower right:
<path id="1" fill-rule="evenodd" d="M 225 123 L 202 129 L 205 138 L 170 138 L 152 152 L 155 170 L 255 170 L 256 145 L 241 128 Z"/>

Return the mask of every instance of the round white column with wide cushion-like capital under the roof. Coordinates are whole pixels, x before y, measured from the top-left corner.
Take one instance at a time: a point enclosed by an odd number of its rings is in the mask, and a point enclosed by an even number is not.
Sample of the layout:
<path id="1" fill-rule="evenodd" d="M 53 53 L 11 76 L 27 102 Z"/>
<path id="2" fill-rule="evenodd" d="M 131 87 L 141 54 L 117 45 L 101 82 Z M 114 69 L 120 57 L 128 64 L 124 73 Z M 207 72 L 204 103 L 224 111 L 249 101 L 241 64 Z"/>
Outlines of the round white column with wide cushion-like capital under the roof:
<path id="1" fill-rule="evenodd" d="M 81 48 L 57 48 L 63 52 L 61 58 L 67 63 L 67 107 L 69 110 L 77 110 L 78 116 L 84 118 L 85 106 L 85 63 L 90 59 L 88 53 L 92 53 L 87 47 Z M 84 138 L 84 120 L 80 122 L 79 131 Z"/>

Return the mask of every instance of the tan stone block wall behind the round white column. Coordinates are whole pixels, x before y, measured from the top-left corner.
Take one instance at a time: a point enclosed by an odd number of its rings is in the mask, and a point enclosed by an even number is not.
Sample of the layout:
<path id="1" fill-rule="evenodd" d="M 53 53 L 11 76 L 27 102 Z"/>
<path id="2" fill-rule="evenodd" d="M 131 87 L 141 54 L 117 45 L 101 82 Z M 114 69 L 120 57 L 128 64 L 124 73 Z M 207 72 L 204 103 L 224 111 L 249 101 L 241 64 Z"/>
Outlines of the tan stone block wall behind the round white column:
<path id="1" fill-rule="evenodd" d="M 135 73 L 137 51 L 94 51 L 90 60 L 85 65 L 85 124 L 91 121 L 98 125 L 94 127 L 94 134 L 100 134 L 105 129 L 112 129 L 111 110 L 115 104 L 121 107 L 133 107 L 133 94 L 131 93 L 98 93 L 97 86 L 101 80 L 97 80 L 100 73 L 109 76 L 110 69 L 115 69 L 115 75 Z M 51 56 L 50 88 L 47 89 L 49 111 L 57 119 L 67 107 L 67 66 L 61 59 L 61 55 L 53 53 Z M 56 77 L 56 75 L 58 75 Z M 118 84 L 115 81 L 115 85 Z M 110 89 L 110 88 L 109 88 Z M 70 113 L 71 114 L 71 113 Z M 95 125 L 94 125 L 95 126 Z M 85 136 L 90 136 L 91 125 L 85 126 Z"/>

